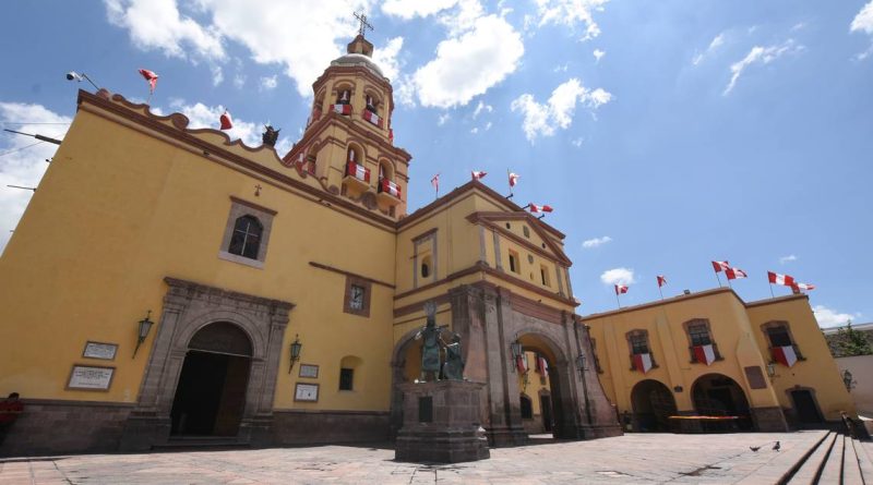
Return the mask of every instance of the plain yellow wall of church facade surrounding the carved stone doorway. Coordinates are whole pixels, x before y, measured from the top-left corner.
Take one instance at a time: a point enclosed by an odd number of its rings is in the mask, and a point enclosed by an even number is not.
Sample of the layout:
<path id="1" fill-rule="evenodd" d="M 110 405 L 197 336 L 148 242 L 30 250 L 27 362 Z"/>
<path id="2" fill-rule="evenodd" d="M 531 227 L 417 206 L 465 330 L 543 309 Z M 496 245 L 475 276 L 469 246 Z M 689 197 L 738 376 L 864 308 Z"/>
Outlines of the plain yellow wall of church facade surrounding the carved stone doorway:
<path id="1" fill-rule="evenodd" d="M 0 259 L 0 308 L 12 323 L 0 326 L 0 389 L 135 401 L 157 330 L 132 360 L 136 322 L 160 314 L 171 276 L 297 305 L 276 408 L 386 410 L 392 290 L 372 286 L 369 318 L 343 313 L 345 277 L 309 262 L 391 282 L 393 232 L 265 182 L 80 110 Z M 231 195 L 278 211 L 263 269 L 217 257 Z M 297 371 L 283 369 L 296 334 L 301 361 L 321 366 L 318 403 L 294 402 Z M 86 340 L 118 343 L 119 355 L 82 359 Z M 363 362 L 354 395 L 336 390 L 345 355 Z M 109 391 L 64 390 L 73 363 L 116 366 Z"/>

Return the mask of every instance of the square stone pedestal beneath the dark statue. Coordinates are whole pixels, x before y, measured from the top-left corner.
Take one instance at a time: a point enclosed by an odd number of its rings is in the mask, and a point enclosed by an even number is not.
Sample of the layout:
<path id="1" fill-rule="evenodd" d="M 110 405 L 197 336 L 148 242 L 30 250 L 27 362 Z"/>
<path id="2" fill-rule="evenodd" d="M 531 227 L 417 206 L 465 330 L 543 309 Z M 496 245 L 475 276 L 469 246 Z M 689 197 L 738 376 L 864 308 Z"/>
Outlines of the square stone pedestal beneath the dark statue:
<path id="1" fill-rule="evenodd" d="M 483 387 L 466 380 L 400 385 L 404 419 L 394 458 L 436 463 L 491 458 L 479 414 Z"/>

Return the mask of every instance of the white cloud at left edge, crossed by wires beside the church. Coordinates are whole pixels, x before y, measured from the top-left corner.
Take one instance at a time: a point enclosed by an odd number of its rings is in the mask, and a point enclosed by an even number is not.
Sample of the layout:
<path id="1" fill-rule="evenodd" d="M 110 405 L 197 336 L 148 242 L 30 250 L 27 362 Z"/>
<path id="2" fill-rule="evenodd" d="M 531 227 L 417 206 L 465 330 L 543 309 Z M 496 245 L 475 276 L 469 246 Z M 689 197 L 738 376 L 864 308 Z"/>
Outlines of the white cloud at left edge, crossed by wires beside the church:
<path id="1" fill-rule="evenodd" d="M 27 121 L 35 124 L 9 124 Z M 38 133 L 61 140 L 72 120 L 55 113 L 40 105 L 0 102 L 0 122 L 4 128 L 23 133 Z M 61 123 L 61 124 L 41 124 Z M 28 145 L 33 145 L 28 147 Z M 3 133 L 0 136 L 0 252 L 9 242 L 10 230 L 19 223 L 33 192 L 7 185 L 35 187 L 48 168 L 46 159 L 55 156 L 58 146 L 38 143 L 29 136 Z"/>

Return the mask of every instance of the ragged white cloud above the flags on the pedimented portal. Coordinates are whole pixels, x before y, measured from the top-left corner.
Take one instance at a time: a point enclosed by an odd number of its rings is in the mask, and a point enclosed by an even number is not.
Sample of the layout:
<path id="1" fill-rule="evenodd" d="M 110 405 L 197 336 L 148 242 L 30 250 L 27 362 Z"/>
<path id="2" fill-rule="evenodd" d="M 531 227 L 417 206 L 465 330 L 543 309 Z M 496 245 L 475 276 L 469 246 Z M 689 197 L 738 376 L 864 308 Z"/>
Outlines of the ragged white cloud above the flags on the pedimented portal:
<path id="1" fill-rule="evenodd" d="M 594 110 L 609 102 L 612 95 L 601 88 L 590 90 L 575 77 L 555 87 L 547 104 L 539 104 L 530 94 L 523 94 L 514 101 L 513 111 L 521 111 L 525 119 L 522 128 L 531 143 L 537 136 L 552 136 L 555 129 L 562 130 L 573 123 L 576 105 Z"/>

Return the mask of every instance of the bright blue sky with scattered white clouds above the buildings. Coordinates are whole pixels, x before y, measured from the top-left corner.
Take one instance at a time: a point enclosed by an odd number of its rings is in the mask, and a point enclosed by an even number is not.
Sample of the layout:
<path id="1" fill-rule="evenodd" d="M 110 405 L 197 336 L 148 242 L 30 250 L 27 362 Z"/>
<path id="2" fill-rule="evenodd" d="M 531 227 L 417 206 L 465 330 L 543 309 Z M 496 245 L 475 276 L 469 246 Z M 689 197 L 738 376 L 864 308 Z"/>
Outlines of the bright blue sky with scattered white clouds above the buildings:
<path id="1" fill-rule="evenodd" d="M 766 271 L 814 283 L 820 324 L 873 319 L 873 1 L 106 0 L 8 2 L 3 128 L 51 136 L 85 72 L 154 110 L 255 144 L 299 137 L 310 85 L 366 11 L 392 78 L 410 208 L 473 169 L 550 204 L 583 314 L 717 284 L 709 260 L 769 298 Z M 0 246 L 53 146 L 0 135 Z M 787 294 L 787 288 L 775 288 Z"/>

